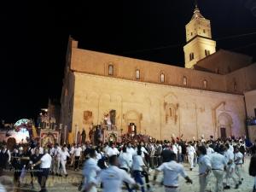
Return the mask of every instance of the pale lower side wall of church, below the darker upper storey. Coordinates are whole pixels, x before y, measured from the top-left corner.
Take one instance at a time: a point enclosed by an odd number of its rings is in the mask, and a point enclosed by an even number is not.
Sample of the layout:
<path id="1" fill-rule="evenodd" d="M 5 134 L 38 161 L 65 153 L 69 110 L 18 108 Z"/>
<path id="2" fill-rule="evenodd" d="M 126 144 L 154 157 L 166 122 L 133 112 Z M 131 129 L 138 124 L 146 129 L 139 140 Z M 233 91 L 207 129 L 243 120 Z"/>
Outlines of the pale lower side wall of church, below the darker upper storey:
<path id="1" fill-rule="evenodd" d="M 75 72 L 74 79 L 73 138 L 75 125 L 88 134 L 112 109 L 123 132 L 135 123 L 138 132 L 157 139 L 220 137 L 221 127 L 227 136 L 245 134 L 243 96 L 86 73 Z"/>

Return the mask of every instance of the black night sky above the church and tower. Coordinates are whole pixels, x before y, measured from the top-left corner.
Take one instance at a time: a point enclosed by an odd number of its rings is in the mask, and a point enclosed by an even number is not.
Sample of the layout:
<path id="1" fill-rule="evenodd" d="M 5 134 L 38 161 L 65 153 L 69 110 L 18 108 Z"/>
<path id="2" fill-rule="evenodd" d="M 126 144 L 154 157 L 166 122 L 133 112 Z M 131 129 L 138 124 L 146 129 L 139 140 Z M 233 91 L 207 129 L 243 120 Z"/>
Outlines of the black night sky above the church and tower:
<path id="1" fill-rule="evenodd" d="M 253 2 L 199 0 L 218 49 L 256 57 Z M 36 117 L 60 98 L 69 35 L 83 49 L 183 67 L 193 10 L 193 0 L 2 1 L 0 119 Z"/>

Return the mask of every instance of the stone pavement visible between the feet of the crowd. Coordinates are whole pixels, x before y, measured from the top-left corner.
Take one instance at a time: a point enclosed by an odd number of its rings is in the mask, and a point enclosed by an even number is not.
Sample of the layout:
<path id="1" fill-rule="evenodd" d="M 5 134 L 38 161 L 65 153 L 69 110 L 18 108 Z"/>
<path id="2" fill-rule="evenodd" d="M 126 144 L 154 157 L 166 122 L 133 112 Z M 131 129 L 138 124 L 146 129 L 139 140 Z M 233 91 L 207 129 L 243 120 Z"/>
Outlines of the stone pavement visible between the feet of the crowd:
<path id="1" fill-rule="evenodd" d="M 253 190 L 253 177 L 250 177 L 248 175 L 248 165 L 249 165 L 249 158 L 246 158 L 245 164 L 242 166 L 242 177 L 244 178 L 242 184 L 240 185 L 239 189 L 234 189 L 234 184 L 232 184 L 231 189 L 229 190 L 225 190 L 225 191 L 234 191 L 234 192 L 238 192 L 238 191 L 242 191 L 242 192 L 251 192 Z M 194 192 L 194 191 L 199 191 L 199 182 L 198 182 L 198 167 L 195 167 L 195 169 L 193 169 L 192 172 L 189 171 L 189 165 L 188 164 L 184 164 L 183 165 L 185 167 L 186 172 L 189 174 L 189 177 L 192 178 L 193 180 L 193 184 L 187 184 L 185 183 L 185 180 L 183 179 L 183 177 L 180 177 L 179 179 L 179 184 L 180 184 L 180 188 L 179 191 L 181 192 Z M 78 191 L 78 185 L 81 181 L 81 171 L 79 172 L 73 172 L 71 170 L 67 171 L 69 173 L 68 177 L 54 177 L 54 176 L 50 176 L 48 179 L 48 191 L 49 192 L 56 192 L 56 191 Z M 151 172 L 151 178 L 154 175 L 154 171 Z M 161 176 L 160 176 L 161 177 Z M 161 178 L 159 177 L 159 181 L 161 180 Z M 31 189 L 29 183 L 30 183 L 30 177 L 29 174 L 27 174 L 27 177 L 24 179 L 23 181 L 23 186 L 17 190 L 20 192 L 27 192 L 27 191 L 39 191 L 39 185 L 38 183 L 35 184 L 35 189 Z M 210 175 L 210 181 L 208 183 L 207 189 L 211 189 L 212 191 L 214 191 L 214 186 L 215 186 L 215 178 L 213 177 L 213 175 Z M 101 189 L 99 189 L 98 191 L 101 191 Z M 127 190 L 124 190 L 127 191 Z M 160 187 L 159 185 L 155 184 L 154 185 L 154 192 L 164 192 L 164 188 Z"/>

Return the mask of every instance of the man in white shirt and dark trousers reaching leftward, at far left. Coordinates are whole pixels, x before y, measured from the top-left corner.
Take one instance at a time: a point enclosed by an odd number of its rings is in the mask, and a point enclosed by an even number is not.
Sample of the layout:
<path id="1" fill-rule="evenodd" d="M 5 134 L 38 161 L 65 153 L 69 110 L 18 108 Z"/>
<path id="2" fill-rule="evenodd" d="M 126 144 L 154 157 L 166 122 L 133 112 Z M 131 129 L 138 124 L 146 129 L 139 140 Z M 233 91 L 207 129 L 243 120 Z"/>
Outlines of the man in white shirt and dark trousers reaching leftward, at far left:
<path id="1" fill-rule="evenodd" d="M 49 168 L 51 164 L 51 156 L 48 154 L 48 148 L 44 148 L 44 155 L 37 163 L 32 164 L 32 167 L 40 164 L 41 172 L 38 172 L 38 183 L 41 186 L 40 192 L 46 192 L 46 181 L 49 175 Z"/>

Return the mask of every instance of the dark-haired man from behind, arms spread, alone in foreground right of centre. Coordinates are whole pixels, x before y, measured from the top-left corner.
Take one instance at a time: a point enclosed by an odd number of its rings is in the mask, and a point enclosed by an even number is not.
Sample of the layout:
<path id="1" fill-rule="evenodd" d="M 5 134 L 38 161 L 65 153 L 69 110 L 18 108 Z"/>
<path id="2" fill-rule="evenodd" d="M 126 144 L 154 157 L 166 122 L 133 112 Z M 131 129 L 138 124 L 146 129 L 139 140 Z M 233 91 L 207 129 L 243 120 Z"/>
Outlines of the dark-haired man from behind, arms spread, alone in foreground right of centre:
<path id="1" fill-rule="evenodd" d="M 167 150 L 166 157 L 168 156 L 167 162 L 164 162 L 158 168 L 155 169 L 154 182 L 157 179 L 159 172 L 164 172 L 164 181 L 166 192 L 177 192 L 178 191 L 178 176 L 181 175 L 187 181 L 187 183 L 193 183 L 185 172 L 183 165 L 177 163 L 177 156 L 171 150 Z M 169 155 L 167 155 L 169 154 Z M 166 159 L 167 160 L 167 159 Z"/>

